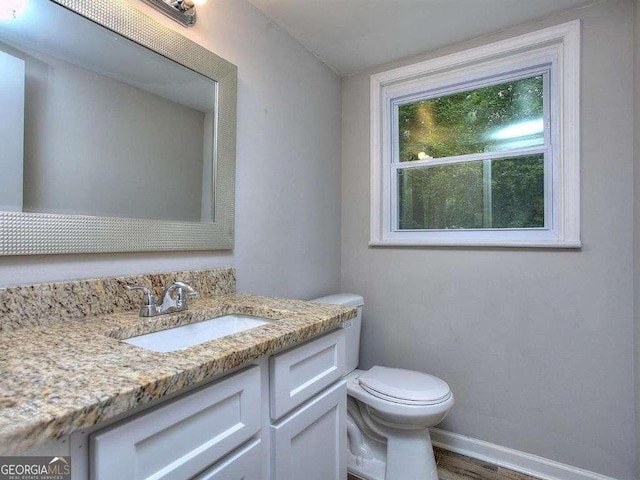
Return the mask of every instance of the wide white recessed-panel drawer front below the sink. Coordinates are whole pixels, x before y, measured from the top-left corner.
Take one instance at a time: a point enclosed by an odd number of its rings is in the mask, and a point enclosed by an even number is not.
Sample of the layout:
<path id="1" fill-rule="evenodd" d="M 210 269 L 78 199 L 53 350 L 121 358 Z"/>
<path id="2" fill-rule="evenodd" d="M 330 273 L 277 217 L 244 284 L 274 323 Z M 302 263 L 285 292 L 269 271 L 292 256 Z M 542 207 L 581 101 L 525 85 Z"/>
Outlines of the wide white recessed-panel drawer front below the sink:
<path id="1" fill-rule="evenodd" d="M 191 478 L 255 435 L 260 417 L 254 366 L 93 434 L 91 478 Z"/>

